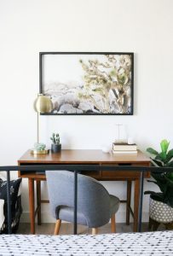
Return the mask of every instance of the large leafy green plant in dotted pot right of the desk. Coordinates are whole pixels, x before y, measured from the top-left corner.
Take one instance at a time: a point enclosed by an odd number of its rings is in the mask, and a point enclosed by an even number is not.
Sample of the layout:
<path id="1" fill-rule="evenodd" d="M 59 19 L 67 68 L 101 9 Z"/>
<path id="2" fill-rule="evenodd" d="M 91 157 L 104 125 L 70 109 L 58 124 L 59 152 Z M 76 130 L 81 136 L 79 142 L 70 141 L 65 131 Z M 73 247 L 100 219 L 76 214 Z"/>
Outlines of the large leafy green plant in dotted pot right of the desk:
<path id="1" fill-rule="evenodd" d="M 173 166 L 173 148 L 168 150 L 170 143 L 162 140 L 161 152 L 147 148 L 147 152 L 154 155 L 155 166 Z M 159 186 L 160 192 L 146 191 L 150 195 L 149 217 L 158 223 L 168 224 L 173 221 L 173 172 L 152 172 L 154 180 L 148 182 Z"/>

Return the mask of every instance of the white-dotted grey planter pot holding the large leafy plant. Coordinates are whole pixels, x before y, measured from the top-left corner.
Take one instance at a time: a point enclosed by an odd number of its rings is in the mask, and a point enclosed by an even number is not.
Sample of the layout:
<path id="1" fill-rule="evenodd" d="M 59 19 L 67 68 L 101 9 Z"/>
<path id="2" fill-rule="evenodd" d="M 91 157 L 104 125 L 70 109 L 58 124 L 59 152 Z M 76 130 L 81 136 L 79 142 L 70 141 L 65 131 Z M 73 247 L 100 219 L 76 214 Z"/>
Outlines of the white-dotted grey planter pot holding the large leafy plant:
<path id="1" fill-rule="evenodd" d="M 149 216 L 159 223 L 171 223 L 173 221 L 173 208 L 161 201 L 155 201 L 150 197 Z"/>

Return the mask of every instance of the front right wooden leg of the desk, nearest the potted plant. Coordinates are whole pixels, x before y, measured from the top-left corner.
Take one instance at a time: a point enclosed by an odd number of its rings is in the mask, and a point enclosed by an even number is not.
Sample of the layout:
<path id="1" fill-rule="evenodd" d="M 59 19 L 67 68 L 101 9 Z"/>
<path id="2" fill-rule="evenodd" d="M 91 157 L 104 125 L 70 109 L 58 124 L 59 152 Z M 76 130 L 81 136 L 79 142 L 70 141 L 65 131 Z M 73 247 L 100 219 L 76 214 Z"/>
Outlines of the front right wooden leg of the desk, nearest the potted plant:
<path id="1" fill-rule="evenodd" d="M 135 191 L 134 191 L 134 232 L 137 231 L 138 227 L 138 208 L 139 208 L 139 195 L 140 195 L 140 180 L 135 180 Z"/>

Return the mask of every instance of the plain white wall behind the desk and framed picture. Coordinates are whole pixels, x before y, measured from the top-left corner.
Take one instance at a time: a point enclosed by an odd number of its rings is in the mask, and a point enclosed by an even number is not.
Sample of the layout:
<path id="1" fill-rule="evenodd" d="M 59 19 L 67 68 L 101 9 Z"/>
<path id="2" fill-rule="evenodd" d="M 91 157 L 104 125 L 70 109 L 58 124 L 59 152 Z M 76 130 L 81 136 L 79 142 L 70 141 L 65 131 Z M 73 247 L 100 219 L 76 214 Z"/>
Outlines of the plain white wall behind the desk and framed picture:
<path id="1" fill-rule="evenodd" d="M 112 143 L 120 123 L 144 152 L 148 146 L 159 148 L 162 138 L 173 146 L 172 11 L 172 0 L 0 0 L 0 165 L 15 165 L 36 141 L 32 103 L 39 51 L 135 53 L 133 116 L 42 116 L 43 142 L 49 145 L 52 131 L 59 131 L 63 148 L 101 148 Z M 125 183 L 104 184 L 125 197 Z M 43 194 L 47 197 L 45 183 Z M 25 180 L 22 202 L 27 221 Z M 121 206 L 118 222 L 124 221 L 124 211 Z M 143 211 L 147 221 L 147 196 Z M 52 220 L 48 206 L 43 220 Z"/>

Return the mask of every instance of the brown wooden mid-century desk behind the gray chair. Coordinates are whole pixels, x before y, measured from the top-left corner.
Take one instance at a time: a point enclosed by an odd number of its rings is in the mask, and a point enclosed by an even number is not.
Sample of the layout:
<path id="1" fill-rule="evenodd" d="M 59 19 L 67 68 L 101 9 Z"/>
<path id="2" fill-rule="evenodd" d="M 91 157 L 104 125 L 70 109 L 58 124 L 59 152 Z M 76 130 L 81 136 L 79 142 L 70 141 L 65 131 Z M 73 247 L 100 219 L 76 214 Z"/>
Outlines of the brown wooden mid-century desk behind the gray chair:
<path id="1" fill-rule="evenodd" d="M 61 150 L 58 154 L 30 154 L 28 150 L 18 160 L 19 166 L 26 165 L 51 165 L 51 164 L 95 164 L 95 165 L 115 165 L 115 166 L 150 166 L 150 160 L 140 151 L 138 154 L 106 154 L 101 150 Z M 127 199 L 122 201 L 126 203 L 126 224 L 130 224 L 130 213 L 134 217 L 134 231 L 137 230 L 138 219 L 138 204 L 139 204 L 139 186 L 140 173 L 139 172 L 107 172 L 94 171 L 83 172 L 85 175 L 95 177 L 101 181 L 127 181 Z M 19 172 L 19 177 L 28 178 L 29 186 L 29 208 L 31 218 L 31 233 L 35 233 L 35 215 L 37 214 L 37 224 L 41 224 L 41 203 L 49 202 L 41 199 L 41 181 L 46 180 L 44 174 L 37 174 L 36 172 Z M 149 173 L 145 174 L 149 177 Z M 34 182 L 37 184 L 37 210 L 35 212 L 34 203 Z M 130 207 L 131 200 L 131 183 L 135 182 L 134 186 L 134 212 Z"/>

